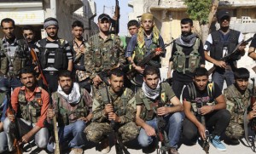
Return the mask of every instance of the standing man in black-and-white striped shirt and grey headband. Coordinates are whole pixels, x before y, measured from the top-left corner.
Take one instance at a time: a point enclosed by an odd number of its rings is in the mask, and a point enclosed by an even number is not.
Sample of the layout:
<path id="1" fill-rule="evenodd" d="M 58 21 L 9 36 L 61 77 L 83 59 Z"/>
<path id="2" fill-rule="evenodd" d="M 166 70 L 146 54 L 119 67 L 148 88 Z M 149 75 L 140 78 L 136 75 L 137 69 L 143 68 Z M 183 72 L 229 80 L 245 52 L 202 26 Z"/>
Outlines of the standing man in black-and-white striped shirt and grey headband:
<path id="1" fill-rule="evenodd" d="M 72 71 L 73 56 L 69 43 L 58 37 L 58 20 L 51 17 L 44 20 L 44 30 L 47 32 L 47 37 L 36 43 L 35 51 L 39 54 L 44 76 L 50 83 L 50 92 L 55 92 L 58 88 L 57 71 Z"/>

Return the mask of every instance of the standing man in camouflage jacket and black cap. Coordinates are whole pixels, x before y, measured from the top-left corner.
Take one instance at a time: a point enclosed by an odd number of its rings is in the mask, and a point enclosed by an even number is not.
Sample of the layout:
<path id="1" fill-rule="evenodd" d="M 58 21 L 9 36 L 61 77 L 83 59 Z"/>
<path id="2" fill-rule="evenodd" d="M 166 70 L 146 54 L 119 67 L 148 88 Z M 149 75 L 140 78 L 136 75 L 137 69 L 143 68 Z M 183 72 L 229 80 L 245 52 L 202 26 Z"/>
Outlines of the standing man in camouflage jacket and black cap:
<path id="1" fill-rule="evenodd" d="M 103 87 L 102 82 L 108 83 L 108 77 L 102 78 L 99 74 L 125 63 L 123 43 L 119 37 L 110 34 L 110 24 L 108 14 L 99 15 L 97 25 L 100 32 L 90 37 L 90 48 L 84 54 L 84 66 L 92 80 L 94 94 Z"/>

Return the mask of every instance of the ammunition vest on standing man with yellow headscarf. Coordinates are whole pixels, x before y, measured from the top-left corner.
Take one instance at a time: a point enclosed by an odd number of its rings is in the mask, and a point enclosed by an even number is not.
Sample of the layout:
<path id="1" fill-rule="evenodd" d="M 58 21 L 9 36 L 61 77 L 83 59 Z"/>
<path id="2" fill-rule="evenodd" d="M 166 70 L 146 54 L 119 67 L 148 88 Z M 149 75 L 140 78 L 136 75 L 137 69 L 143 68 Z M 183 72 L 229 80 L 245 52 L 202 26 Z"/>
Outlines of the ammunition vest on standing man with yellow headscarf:
<path id="1" fill-rule="evenodd" d="M 145 44 L 142 47 L 136 45 L 134 49 L 134 55 L 132 55 L 134 62 L 136 64 L 139 63 L 145 56 L 150 54 L 152 51 L 154 51 L 154 48 L 157 47 L 159 47 L 159 39 L 155 37 L 152 38 L 152 43 L 150 44 L 149 48 L 147 48 Z M 160 57 L 154 57 L 148 62 L 148 65 L 160 68 Z"/>

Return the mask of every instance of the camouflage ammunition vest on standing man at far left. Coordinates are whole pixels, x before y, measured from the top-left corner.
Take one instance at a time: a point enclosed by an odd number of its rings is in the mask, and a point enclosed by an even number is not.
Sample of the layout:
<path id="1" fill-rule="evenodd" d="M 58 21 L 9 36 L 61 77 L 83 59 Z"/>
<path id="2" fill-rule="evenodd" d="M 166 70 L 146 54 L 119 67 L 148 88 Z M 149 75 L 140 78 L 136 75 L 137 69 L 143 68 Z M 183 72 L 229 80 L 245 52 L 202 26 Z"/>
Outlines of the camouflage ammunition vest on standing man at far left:
<path id="1" fill-rule="evenodd" d="M 20 74 L 20 69 L 25 67 L 28 60 L 29 55 L 26 53 L 25 48 L 26 43 L 23 39 L 17 40 L 18 46 L 15 50 L 15 56 L 13 58 L 9 57 L 7 54 L 7 50 L 3 47 L 3 40 L 0 39 L 0 71 L 7 75 L 15 75 L 18 76 Z M 11 66 L 13 66 L 13 70 L 10 70 Z"/>

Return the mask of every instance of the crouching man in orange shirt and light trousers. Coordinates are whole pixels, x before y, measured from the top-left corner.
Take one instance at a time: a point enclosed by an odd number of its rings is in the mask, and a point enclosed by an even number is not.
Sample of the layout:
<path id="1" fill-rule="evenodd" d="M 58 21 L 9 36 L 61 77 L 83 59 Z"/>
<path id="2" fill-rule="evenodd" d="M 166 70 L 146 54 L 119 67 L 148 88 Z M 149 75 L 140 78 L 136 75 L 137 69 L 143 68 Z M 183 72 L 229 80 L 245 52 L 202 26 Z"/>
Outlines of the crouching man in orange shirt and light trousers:
<path id="1" fill-rule="evenodd" d="M 20 80 L 24 85 L 15 88 L 11 95 L 11 106 L 15 110 L 15 115 L 9 114 L 3 121 L 3 129 L 7 134 L 9 151 L 14 151 L 14 134 L 20 129 L 22 143 L 32 140 L 39 148 L 45 148 L 49 139 L 48 129 L 44 128 L 46 111 L 49 106 L 49 94 L 38 87 L 36 83 L 36 72 L 32 67 L 24 67 L 20 70 Z M 15 120 L 20 128 L 15 128 Z M 1 139 L 2 140 L 2 139 Z"/>

